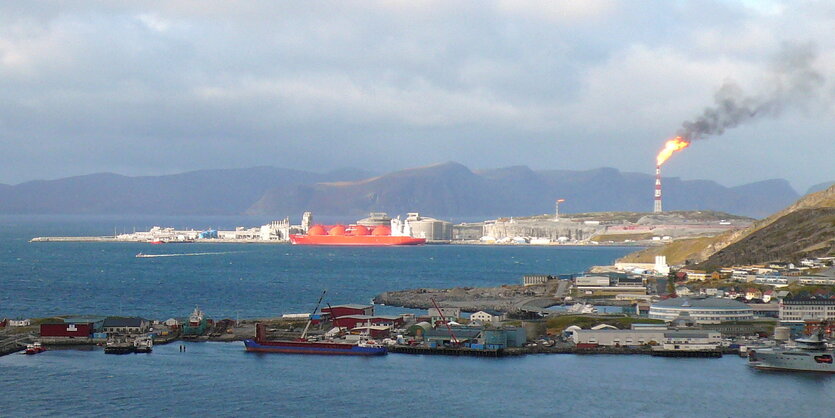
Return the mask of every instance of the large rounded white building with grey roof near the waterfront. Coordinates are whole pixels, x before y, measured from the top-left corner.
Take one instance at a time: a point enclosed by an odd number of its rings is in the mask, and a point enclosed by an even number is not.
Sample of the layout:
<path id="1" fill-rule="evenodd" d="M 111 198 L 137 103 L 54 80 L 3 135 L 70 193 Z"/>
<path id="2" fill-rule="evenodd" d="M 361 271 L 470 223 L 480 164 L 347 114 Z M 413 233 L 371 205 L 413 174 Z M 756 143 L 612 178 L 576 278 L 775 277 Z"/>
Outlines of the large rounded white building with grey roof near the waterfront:
<path id="1" fill-rule="evenodd" d="M 671 322 L 687 314 L 698 324 L 715 324 L 724 321 L 754 319 L 750 306 L 732 299 L 681 297 L 653 303 L 649 317 Z"/>

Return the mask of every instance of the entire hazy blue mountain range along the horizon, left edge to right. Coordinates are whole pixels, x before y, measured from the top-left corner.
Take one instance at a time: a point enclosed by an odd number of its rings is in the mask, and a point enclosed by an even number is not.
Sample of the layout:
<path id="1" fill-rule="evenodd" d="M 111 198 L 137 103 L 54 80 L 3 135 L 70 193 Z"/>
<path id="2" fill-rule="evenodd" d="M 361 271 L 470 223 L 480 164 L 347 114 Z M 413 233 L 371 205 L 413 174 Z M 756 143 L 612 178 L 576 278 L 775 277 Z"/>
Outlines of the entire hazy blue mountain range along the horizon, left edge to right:
<path id="1" fill-rule="evenodd" d="M 649 211 L 655 178 L 614 168 L 470 170 L 455 162 L 374 176 L 363 170 L 312 173 L 275 167 L 200 170 L 165 176 L 111 173 L 0 185 L 0 213 L 364 216 L 418 211 L 443 218 L 566 212 Z M 666 210 L 718 210 L 766 216 L 799 196 L 785 180 L 725 187 L 663 179 Z"/>

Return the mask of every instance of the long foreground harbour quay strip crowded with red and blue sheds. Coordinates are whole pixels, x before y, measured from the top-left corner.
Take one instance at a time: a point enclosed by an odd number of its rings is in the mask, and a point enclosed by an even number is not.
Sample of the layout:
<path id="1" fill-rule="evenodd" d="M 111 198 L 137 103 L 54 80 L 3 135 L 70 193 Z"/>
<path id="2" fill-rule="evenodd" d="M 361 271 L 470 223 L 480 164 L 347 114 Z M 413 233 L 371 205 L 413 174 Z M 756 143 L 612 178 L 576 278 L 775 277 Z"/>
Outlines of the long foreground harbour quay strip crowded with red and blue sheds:
<path id="1" fill-rule="evenodd" d="M 579 322 L 599 320 L 622 323 L 616 320 L 618 316 L 613 315 L 563 317 Z M 699 335 L 692 330 L 687 335 L 687 341 L 678 342 L 676 350 L 665 349 L 665 334 L 672 338 L 675 337 L 673 334 L 680 335 L 680 331 L 664 326 L 655 328 L 655 339 L 658 341 L 647 341 L 640 345 L 589 344 L 587 341 L 578 342 L 585 340 L 577 340 L 566 333 L 549 334 L 546 321 L 542 319 L 514 320 L 493 311 L 475 312 L 465 317 L 458 308 L 431 308 L 425 315 L 377 315 L 373 305 L 362 304 L 328 306 L 312 315 L 289 313 L 275 318 L 245 320 L 214 320 L 196 307 L 187 317 L 167 320 L 82 315 L 31 318 L 25 322 L 16 322 L 14 326 L 9 324 L 9 320 L 3 322 L 5 325 L 0 328 L 0 355 L 21 351 L 30 354 L 35 345 L 45 350 L 102 347 L 105 353 L 123 354 L 151 352 L 153 345 L 185 341 L 252 340 L 321 343 L 345 341 L 353 344 L 371 341 L 372 344 L 385 347 L 392 354 L 486 358 L 526 354 L 713 357 L 739 352 L 738 347 L 721 347 L 718 344 L 706 346 L 706 339 L 711 336 Z M 263 333 L 261 336 L 258 335 L 259 329 Z M 605 332 L 607 329 L 610 328 L 602 330 Z M 645 333 L 646 330 L 636 332 Z M 692 349 L 688 346 L 692 346 Z M 185 350 L 185 346 L 180 348 Z"/>

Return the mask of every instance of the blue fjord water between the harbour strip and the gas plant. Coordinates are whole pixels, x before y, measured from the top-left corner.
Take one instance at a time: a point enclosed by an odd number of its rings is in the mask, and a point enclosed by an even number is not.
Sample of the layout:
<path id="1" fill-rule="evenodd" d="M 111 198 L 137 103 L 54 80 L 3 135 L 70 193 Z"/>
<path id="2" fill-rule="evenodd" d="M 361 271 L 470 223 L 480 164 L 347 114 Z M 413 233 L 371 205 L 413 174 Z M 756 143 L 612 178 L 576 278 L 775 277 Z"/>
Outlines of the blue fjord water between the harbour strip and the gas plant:
<path id="1" fill-rule="evenodd" d="M 388 290 L 498 286 L 520 283 L 524 274 L 580 272 L 633 250 L 28 242 L 39 235 L 113 233 L 112 227 L 88 222 L 22 220 L 0 227 L 0 315 L 109 314 L 164 320 L 186 316 L 199 305 L 214 318 L 277 316 L 309 312 L 323 289 L 331 304 L 368 303 Z M 136 258 L 139 252 L 205 255 Z"/>

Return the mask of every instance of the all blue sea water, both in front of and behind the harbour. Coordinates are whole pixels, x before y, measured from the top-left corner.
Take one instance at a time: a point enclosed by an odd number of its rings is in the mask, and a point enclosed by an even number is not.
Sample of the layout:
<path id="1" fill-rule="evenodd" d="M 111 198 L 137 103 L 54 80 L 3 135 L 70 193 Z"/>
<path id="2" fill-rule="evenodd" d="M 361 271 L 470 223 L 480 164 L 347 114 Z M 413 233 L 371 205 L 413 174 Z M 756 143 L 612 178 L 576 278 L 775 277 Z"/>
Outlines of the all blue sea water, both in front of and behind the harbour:
<path id="1" fill-rule="evenodd" d="M 256 224 L 166 220 L 174 226 Z M 367 302 L 411 287 L 493 286 L 528 273 L 572 273 L 626 248 L 28 243 L 39 235 L 112 234 L 148 220 L 0 218 L 0 316 L 215 318 Z M 219 252 L 137 259 L 145 253 Z M 390 308 L 388 308 L 390 309 Z M 396 312 L 397 309 L 392 311 Z M 835 379 L 749 370 L 743 359 L 537 355 L 472 359 L 245 353 L 240 343 L 96 349 L 0 357 L 0 416 L 826 416 Z"/>

